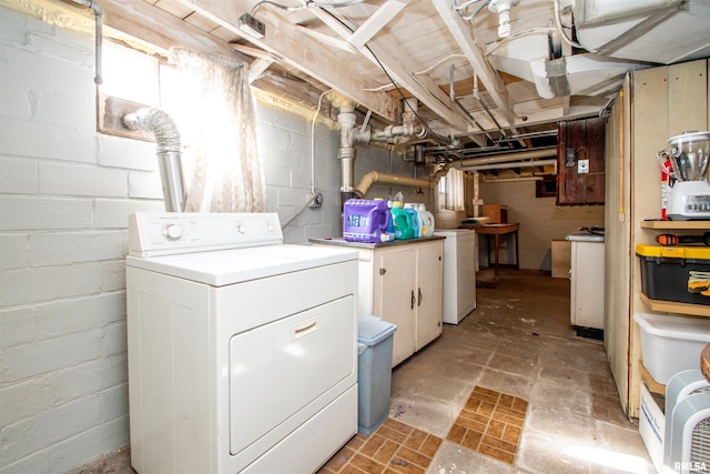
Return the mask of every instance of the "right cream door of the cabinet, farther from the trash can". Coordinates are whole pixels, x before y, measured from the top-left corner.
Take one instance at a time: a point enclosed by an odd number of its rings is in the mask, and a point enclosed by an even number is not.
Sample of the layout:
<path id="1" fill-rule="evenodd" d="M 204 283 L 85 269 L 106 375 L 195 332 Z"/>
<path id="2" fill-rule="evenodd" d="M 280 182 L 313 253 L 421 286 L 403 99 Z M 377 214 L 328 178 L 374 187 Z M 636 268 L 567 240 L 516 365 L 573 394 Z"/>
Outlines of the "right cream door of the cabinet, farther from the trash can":
<path id="1" fill-rule="evenodd" d="M 444 244 L 417 245 L 416 345 L 424 347 L 442 334 L 444 292 Z"/>

